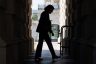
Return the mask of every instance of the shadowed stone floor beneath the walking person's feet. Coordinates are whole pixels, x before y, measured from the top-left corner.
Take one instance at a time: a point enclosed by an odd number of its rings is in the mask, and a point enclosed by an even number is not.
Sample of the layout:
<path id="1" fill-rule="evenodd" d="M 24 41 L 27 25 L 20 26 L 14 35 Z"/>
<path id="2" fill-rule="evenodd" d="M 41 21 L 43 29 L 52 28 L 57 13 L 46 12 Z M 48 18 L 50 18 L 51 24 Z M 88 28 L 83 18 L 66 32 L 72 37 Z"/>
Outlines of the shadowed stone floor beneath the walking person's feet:
<path id="1" fill-rule="evenodd" d="M 56 54 L 58 56 L 60 55 L 59 50 L 56 50 Z M 67 54 L 59 59 L 52 60 L 49 50 L 42 51 L 42 58 L 43 60 L 41 62 L 35 62 L 34 54 L 32 54 L 27 59 L 25 59 L 24 64 L 75 64 Z"/>

